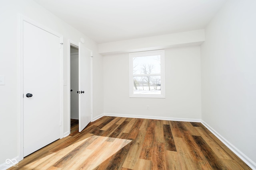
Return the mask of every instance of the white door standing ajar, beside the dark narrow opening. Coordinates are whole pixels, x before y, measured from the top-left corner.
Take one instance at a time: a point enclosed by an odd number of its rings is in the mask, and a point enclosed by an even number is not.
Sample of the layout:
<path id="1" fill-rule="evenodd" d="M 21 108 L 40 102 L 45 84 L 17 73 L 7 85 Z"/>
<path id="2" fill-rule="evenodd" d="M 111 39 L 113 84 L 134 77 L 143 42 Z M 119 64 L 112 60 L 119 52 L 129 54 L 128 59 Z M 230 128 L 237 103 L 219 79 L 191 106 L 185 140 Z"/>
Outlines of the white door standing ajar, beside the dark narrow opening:
<path id="1" fill-rule="evenodd" d="M 79 43 L 78 60 L 79 132 L 81 132 L 91 121 L 91 51 L 83 43 Z"/>

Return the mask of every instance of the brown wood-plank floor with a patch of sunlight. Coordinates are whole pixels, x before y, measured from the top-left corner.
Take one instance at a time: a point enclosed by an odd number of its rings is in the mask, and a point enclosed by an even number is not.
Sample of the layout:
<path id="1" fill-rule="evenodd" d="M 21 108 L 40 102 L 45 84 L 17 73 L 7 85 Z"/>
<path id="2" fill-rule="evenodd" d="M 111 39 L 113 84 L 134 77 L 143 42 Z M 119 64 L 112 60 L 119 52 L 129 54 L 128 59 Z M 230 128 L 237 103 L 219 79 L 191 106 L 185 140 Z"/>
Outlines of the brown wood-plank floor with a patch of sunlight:
<path id="1" fill-rule="evenodd" d="M 26 156 L 19 170 L 250 170 L 201 123 L 102 117 Z"/>

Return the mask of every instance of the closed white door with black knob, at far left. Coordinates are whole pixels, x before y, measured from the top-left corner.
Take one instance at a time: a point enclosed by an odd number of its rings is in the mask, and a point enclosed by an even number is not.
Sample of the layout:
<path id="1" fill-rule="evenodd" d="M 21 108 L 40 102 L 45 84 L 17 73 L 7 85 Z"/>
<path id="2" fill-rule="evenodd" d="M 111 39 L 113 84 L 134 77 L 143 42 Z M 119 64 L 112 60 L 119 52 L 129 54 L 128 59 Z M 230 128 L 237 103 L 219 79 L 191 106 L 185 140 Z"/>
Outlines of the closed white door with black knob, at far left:
<path id="1" fill-rule="evenodd" d="M 24 156 L 60 138 L 60 64 L 60 37 L 24 21 Z"/>

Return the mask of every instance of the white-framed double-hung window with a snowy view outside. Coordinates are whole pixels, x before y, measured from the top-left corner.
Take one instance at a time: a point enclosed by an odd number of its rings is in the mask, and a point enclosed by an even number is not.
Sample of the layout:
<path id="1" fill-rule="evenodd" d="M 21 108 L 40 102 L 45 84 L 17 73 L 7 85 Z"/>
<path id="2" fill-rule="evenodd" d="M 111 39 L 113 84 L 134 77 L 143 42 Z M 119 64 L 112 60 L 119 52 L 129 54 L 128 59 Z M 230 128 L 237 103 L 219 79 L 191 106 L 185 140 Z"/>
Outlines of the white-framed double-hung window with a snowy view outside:
<path id="1" fill-rule="evenodd" d="M 129 53 L 130 98 L 165 98 L 164 50 Z"/>

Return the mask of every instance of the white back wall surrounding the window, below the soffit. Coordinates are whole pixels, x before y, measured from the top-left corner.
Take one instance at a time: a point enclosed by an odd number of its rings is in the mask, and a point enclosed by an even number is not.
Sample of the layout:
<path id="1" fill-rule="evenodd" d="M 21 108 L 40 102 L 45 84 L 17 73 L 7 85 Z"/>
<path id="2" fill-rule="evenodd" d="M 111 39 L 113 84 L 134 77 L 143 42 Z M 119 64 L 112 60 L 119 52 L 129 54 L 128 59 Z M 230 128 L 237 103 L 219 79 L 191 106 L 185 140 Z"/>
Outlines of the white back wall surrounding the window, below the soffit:
<path id="1" fill-rule="evenodd" d="M 200 46 L 166 49 L 165 68 L 166 98 L 129 98 L 128 53 L 104 56 L 104 113 L 201 119 Z"/>

